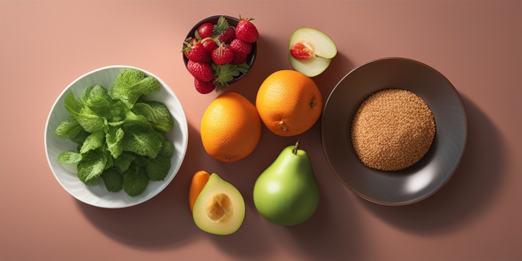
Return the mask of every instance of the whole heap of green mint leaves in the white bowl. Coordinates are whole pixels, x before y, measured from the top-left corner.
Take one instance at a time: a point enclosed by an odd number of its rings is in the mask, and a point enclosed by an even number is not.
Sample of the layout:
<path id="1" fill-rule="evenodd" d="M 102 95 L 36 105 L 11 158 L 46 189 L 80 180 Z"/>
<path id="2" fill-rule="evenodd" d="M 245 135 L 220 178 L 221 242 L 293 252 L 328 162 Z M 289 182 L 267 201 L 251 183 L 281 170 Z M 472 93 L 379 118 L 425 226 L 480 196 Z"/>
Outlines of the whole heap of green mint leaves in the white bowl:
<path id="1" fill-rule="evenodd" d="M 128 68 L 109 91 L 94 85 L 79 98 L 68 92 L 64 106 L 70 116 L 55 134 L 77 143 L 78 152 L 62 152 L 56 160 L 77 163 L 78 179 L 88 186 L 101 178 L 108 191 L 123 189 L 132 197 L 149 181 L 164 180 L 174 153 L 164 132 L 172 130 L 174 120 L 165 104 L 145 98 L 159 89 L 157 79 Z"/>

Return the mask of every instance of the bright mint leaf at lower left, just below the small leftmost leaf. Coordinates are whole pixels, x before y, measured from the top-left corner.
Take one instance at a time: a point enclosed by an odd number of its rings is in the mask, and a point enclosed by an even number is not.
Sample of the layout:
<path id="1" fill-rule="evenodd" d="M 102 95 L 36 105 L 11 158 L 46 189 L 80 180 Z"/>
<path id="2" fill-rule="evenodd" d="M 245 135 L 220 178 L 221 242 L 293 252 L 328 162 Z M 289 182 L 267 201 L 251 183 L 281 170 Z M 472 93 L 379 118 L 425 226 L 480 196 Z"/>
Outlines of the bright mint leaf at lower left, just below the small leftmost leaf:
<path id="1" fill-rule="evenodd" d="M 99 149 L 82 154 L 76 167 L 78 179 L 88 186 L 97 185 L 106 163 L 105 154 Z"/>

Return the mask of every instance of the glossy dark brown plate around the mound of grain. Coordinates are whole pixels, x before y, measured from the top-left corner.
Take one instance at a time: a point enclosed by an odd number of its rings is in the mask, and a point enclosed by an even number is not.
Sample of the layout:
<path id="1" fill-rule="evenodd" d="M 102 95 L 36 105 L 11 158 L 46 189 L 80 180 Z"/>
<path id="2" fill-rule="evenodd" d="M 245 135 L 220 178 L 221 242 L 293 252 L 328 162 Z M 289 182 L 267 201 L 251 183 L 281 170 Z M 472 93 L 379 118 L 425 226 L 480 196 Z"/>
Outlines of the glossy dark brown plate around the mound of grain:
<path id="1" fill-rule="evenodd" d="M 419 162 L 404 170 L 379 171 L 359 160 L 350 127 L 361 102 L 390 87 L 421 97 L 432 110 L 436 131 Z M 352 192 L 378 204 L 406 205 L 432 195 L 453 175 L 464 155 L 467 119 L 457 90 L 442 74 L 407 58 L 382 58 L 353 69 L 330 93 L 321 138 L 330 168 Z"/>

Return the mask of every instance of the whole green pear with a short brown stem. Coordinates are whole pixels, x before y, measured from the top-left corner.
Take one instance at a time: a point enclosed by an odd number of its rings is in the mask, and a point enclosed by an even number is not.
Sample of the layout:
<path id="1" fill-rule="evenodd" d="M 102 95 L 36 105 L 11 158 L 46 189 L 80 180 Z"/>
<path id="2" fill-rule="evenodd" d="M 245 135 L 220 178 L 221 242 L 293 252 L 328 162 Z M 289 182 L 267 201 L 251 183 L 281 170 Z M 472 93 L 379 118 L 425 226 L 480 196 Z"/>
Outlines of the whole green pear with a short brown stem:
<path id="1" fill-rule="evenodd" d="M 308 220 L 319 205 L 319 185 L 310 157 L 295 146 L 284 148 L 254 185 L 254 205 L 268 221 L 292 226 Z"/>

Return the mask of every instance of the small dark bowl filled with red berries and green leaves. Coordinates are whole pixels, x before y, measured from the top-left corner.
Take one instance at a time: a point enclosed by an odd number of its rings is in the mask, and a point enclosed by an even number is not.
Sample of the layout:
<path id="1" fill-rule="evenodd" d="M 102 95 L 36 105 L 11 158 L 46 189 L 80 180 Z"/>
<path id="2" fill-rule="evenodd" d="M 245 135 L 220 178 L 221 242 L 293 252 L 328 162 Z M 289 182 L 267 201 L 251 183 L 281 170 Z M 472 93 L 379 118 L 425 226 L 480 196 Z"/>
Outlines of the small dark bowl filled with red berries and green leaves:
<path id="1" fill-rule="evenodd" d="M 199 93 L 219 91 L 254 64 L 259 32 L 252 18 L 215 15 L 199 21 L 183 42 L 183 62 Z"/>

